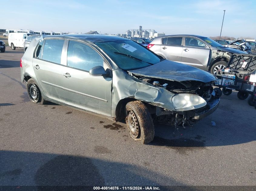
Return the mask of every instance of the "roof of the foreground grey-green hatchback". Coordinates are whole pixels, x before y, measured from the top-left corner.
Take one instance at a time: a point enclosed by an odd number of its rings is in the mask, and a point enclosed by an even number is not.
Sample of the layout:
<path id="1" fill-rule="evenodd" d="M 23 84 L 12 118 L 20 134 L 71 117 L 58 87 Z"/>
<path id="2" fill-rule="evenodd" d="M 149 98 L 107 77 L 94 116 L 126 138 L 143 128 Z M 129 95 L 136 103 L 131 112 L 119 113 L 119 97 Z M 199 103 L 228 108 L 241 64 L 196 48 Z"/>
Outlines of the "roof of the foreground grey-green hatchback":
<path id="1" fill-rule="evenodd" d="M 84 42 L 106 42 L 106 41 L 114 41 L 114 40 L 127 40 L 122 37 L 109 36 L 109 35 L 101 35 L 101 34 L 61 34 L 61 35 L 48 35 L 43 37 L 44 39 L 70 39 L 70 40 L 81 40 Z"/>

